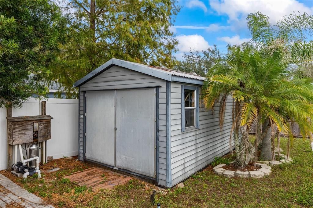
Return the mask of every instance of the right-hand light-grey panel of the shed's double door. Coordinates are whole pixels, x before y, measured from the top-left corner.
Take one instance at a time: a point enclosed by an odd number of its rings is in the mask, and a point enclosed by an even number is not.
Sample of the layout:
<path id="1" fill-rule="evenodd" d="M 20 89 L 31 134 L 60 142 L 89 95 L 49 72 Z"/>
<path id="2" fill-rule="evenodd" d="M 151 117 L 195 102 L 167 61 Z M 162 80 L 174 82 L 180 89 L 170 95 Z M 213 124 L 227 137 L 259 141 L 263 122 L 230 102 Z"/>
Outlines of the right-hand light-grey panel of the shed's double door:
<path id="1" fill-rule="evenodd" d="M 155 177 L 155 88 L 116 91 L 116 167 Z"/>

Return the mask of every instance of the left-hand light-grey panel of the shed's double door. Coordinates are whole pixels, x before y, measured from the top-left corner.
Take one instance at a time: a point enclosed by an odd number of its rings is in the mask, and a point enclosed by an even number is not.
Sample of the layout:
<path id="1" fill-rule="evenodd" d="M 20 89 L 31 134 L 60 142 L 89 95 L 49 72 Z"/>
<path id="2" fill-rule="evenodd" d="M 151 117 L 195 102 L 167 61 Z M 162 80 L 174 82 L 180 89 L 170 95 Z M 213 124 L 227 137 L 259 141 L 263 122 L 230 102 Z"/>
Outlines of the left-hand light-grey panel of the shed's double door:
<path id="1" fill-rule="evenodd" d="M 114 91 L 86 92 L 86 159 L 114 166 Z"/>

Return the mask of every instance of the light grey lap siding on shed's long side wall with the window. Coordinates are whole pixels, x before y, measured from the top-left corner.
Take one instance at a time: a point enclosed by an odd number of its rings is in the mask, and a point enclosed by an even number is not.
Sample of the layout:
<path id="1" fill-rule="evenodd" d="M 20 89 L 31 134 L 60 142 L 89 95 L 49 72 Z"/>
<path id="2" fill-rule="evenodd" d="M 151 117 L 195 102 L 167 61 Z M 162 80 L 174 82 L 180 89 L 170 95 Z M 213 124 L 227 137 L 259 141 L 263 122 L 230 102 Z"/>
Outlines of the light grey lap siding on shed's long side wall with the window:
<path id="1" fill-rule="evenodd" d="M 229 151 L 232 126 L 232 99 L 227 100 L 222 131 L 219 127 L 218 106 L 212 110 L 199 109 L 199 128 L 182 132 L 181 83 L 171 83 L 171 170 L 172 185 L 207 166 L 217 156 Z M 201 89 L 201 87 L 199 86 Z M 200 91 L 201 92 L 201 91 Z"/>

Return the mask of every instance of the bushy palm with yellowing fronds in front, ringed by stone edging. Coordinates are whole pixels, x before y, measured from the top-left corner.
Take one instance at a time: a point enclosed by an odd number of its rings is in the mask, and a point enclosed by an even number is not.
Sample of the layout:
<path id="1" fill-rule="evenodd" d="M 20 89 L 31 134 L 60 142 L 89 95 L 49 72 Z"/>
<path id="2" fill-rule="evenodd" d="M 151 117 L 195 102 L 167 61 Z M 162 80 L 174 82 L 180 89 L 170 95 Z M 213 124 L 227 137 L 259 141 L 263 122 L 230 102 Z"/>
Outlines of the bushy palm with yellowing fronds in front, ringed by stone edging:
<path id="1" fill-rule="evenodd" d="M 220 99 L 220 112 L 223 113 L 225 97 L 233 97 L 232 129 L 237 166 L 243 167 L 252 156 L 254 162 L 257 161 L 259 141 L 262 141 L 261 156 L 271 159 L 271 139 L 270 136 L 269 139 L 264 137 L 270 135 L 274 126 L 292 136 L 288 123 L 290 118 L 299 123 L 303 135 L 313 132 L 312 80 L 298 73 L 299 63 L 298 59 L 290 56 L 284 42 L 273 40 L 267 45 L 243 43 L 241 46 L 228 46 L 226 57 L 214 66 L 216 74 L 208 77 L 203 88 L 203 100 L 207 107 L 213 108 Z M 248 132 L 255 120 L 256 139 L 252 146 Z M 260 133 L 261 124 L 263 134 Z"/>

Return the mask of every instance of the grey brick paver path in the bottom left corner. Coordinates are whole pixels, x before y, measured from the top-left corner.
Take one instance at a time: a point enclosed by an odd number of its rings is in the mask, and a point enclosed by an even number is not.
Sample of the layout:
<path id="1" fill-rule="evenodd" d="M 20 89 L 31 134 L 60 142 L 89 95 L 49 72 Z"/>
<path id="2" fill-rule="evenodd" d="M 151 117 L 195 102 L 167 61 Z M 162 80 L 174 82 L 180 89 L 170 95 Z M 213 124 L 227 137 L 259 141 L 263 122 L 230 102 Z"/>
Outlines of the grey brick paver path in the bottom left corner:
<path id="1" fill-rule="evenodd" d="M 0 207 L 18 204 L 27 208 L 53 208 L 52 205 L 39 198 L 38 196 L 26 191 L 21 186 L 13 183 L 10 179 L 0 174 Z"/>

